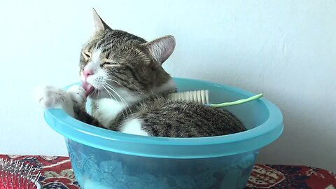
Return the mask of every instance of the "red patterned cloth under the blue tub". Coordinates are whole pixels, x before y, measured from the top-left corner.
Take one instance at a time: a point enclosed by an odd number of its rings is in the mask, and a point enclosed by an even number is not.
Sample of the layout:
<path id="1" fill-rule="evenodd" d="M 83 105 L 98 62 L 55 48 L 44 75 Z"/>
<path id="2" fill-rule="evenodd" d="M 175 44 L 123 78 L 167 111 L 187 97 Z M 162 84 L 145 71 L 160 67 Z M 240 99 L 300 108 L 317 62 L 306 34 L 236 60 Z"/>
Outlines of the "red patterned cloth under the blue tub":
<path id="1" fill-rule="evenodd" d="M 6 160 L 22 160 L 41 170 L 43 188 L 77 189 L 68 157 L 43 155 L 0 155 Z M 324 169 L 289 165 L 255 165 L 246 188 L 336 188 L 336 174 Z"/>

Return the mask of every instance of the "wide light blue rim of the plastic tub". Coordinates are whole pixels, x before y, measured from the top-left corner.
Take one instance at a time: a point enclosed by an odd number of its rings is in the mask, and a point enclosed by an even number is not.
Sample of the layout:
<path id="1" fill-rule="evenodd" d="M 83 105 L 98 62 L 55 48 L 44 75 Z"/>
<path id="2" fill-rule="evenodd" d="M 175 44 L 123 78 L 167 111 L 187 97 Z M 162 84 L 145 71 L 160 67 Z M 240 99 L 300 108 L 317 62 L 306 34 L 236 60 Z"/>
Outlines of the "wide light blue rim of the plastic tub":
<path id="1" fill-rule="evenodd" d="M 237 87 L 232 87 L 230 85 L 221 85 L 218 83 L 213 83 L 204 80 L 195 80 L 191 78 L 174 78 L 174 80 L 186 80 L 188 82 L 203 83 L 206 85 L 212 85 L 214 87 L 225 88 L 225 90 L 232 90 L 234 92 L 238 92 L 246 96 L 255 95 L 252 92 L 241 90 Z M 50 127 L 52 127 L 53 130 L 59 132 L 59 134 L 62 134 L 64 137 L 66 137 L 66 139 L 71 139 L 73 141 L 77 141 L 87 146 L 100 148 L 106 151 L 115 151 L 118 153 L 126 153 L 130 155 L 141 155 L 148 157 L 186 158 L 188 156 L 188 158 L 200 158 L 202 157 L 202 155 L 193 155 L 192 153 L 190 153 L 190 155 L 183 154 L 183 155 L 176 155 L 176 157 L 175 156 L 172 157 L 172 155 L 166 156 L 166 155 L 153 155 L 152 153 L 146 153 L 146 152 L 145 153 L 131 152 L 127 151 L 127 149 L 123 150 L 123 149 L 116 149 L 116 147 L 113 148 L 111 146 L 99 145 L 97 144 L 97 140 L 121 141 L 126 142 L 127 144 L 195 147 L 195 146 L 214 146 L 220 144 L 232 144 L 241 141 L 248 141 L 257 139 L 262 135 L 269 134 L 270 132 L 274 132 L 271 138 L 260 142 L 260 144 L 256 145 L 255 148 L 244 148 L 241 149 L 239 152 L 243 153 L 247 151 L 253 151 L 255 149 L 267 146 L 268 144 L 272 143 L 272 141 L 276 140 L 283 131 L 283 116 L 278 107 L 276 107 L 272 102 L 269 102 L 269 100 L 267 100 L 265 97 L 257 99 L 256 101 L 266 106 L 269 111 L 269 118 L 267 118 L 264 123 L 254 127 L 251 130 L 216 137 L 169 138 L 169 137 L 148 137 L 134 134 L 125 134 L 121 132 L 115 132 L 112 130 L 102 129 L 99 127 L 92 127 L 92 125 L 88 125 L 79 120 L 76 120 L 75 118 L 72 118 L 62 109 L 45 109 L 44 116 L 45 121 L 48 123 L 48 125 L 50 125 Z M 64 127 L 66 127 L 66 130 L 64 129 Z M 80 139 L 80 137 L 76 137 L 76 134 L 82 134 L 83 136 L 86 137 L 85 139 Z M 218 154 L 232 155 L 235 153 L 223 151 L 223 153 Z M 214 157 L 217 156 L 218 155 L 214 155 Z"/>

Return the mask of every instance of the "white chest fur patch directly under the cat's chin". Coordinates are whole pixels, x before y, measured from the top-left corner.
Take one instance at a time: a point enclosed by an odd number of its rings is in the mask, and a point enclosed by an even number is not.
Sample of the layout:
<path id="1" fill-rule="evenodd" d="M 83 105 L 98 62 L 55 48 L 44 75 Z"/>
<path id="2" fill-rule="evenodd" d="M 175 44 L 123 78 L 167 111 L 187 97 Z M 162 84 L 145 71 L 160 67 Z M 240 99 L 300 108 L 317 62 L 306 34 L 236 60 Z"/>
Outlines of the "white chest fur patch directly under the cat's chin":
<path id="1" fill-rule="evenodd" d="M 125 104 L 113 99 L 99 99 L 95 103 L 97 109 L 93 112 L 93 116 L 107 128 L 111 126 L 113 120 L 116 120 L 118 114 L 125 109 Z"/>

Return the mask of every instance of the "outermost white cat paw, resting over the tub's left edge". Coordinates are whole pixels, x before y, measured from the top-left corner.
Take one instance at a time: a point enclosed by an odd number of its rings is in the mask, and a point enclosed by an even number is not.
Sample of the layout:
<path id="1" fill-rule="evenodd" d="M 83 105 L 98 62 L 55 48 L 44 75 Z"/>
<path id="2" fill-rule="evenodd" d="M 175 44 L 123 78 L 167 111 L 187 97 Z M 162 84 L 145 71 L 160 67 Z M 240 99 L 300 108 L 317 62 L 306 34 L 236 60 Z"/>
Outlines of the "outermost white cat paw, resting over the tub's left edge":
<path id="1" fill-rule="evenodd" d="M 45 109 L 61 108 L 66 100 L 64 90 L 52 86 L 37 87 L 34 90 L 34 97 Z"/>

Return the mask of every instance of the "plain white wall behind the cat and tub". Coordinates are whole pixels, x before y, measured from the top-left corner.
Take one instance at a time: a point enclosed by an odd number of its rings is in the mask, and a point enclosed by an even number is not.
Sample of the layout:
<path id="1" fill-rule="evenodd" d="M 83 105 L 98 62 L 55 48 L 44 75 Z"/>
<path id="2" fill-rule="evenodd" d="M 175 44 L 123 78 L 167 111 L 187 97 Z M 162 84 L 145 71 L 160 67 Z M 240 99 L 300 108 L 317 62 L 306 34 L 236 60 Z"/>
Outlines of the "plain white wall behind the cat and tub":
<path id="1" fill-rule="evenodd" d="M 66 155 L 31 99 L 78 81 L 91 8 L 114 29 L 176 37 L 173 76 L 264 92 L 284 116 L 259 162 L 336 172 L 336 1 L 1 1 L 0 153 Z"/>

